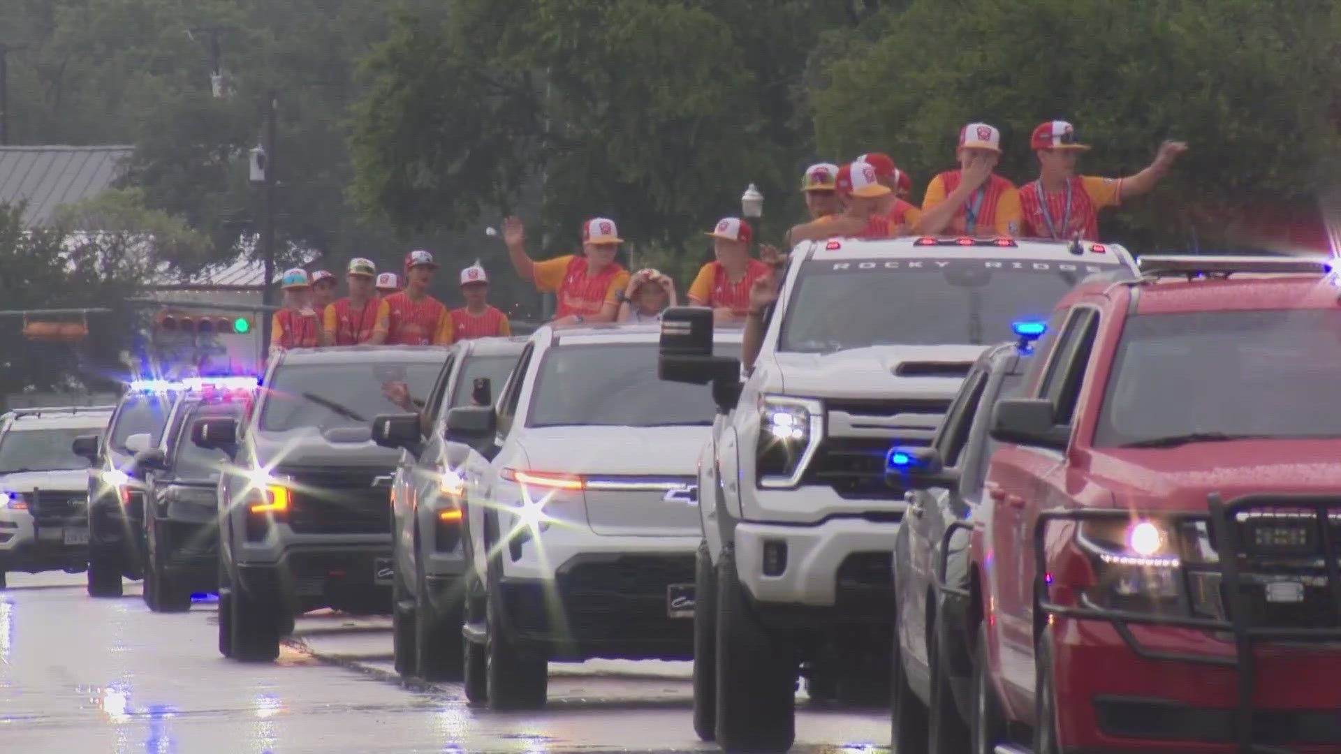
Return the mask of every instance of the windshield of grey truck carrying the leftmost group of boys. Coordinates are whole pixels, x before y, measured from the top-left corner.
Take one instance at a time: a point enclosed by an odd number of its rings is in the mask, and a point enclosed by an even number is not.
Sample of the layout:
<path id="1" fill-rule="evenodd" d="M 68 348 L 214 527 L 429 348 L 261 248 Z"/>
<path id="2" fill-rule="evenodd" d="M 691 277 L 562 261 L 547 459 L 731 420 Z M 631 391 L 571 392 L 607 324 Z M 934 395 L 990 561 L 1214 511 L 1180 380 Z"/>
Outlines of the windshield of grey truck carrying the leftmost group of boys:
<path id="1" fill-rule="evenodd" d="M 420 411 L 441 369 L 428 361 L 284 365 L 266 386 L 260 429 L 367 427 L 380 413 Z"/>

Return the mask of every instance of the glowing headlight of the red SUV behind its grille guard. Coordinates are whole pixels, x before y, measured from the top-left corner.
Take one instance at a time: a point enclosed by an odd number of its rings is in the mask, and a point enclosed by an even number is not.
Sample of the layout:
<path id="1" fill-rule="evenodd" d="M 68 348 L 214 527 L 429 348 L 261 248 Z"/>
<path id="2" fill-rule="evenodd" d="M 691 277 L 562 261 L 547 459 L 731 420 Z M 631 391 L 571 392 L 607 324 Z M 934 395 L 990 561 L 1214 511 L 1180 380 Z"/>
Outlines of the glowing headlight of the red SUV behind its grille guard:
<path id="1" fill-rule="evenodd" d="M 1075 545 L 1090 574 L 1070 578 L 1101 606 L 1171 612 L 1183 596 L 1183 569 L 1173 531 L 1153 519 L 1081 522 Z"/>

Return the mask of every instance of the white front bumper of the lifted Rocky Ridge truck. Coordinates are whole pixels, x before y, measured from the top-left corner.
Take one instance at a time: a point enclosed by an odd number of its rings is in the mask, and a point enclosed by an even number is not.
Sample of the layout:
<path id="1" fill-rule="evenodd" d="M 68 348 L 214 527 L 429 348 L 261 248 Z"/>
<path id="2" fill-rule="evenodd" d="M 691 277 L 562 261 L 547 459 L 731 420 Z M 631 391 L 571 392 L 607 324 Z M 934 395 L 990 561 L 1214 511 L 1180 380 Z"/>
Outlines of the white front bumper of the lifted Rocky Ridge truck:
<path id="1" fill-rule="evenodd" d="M 833 609 L 835 617 L 886 623 L 893 616 L 897 522 L 831 518 L 814 526 L 736 525 L 736 573 L 760 608 Z M 766 554 L 782 568 L 766 572 Z"/>

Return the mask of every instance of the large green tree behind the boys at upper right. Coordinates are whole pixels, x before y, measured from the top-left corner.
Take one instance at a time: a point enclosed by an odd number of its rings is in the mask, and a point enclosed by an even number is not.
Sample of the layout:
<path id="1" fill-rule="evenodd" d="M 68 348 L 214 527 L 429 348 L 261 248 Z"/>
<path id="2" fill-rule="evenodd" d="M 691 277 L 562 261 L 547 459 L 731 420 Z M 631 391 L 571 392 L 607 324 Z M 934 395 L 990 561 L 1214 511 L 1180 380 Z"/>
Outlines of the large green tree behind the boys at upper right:
<path id="1" fill-rule="evenodd" d="M 1092 174 L 1126 174 L 1163 138 L 1181 158 L 1156 196 L 1106 216 L 1137 248 L 1226 239 L 1246 208 L 1316 203 L 1341 154 L 1341 4 L 1255 0 L 915 0 L 880 35 L 817 60 L 807 103 L 829 150 L 886 148 L 920 184 L 957 129 L 1002 129 L 1000 172 L 1037 176 L 1029 134 L 1071 121 Z M 1193 235 L 1195 233 L 1195 235 Z"/>

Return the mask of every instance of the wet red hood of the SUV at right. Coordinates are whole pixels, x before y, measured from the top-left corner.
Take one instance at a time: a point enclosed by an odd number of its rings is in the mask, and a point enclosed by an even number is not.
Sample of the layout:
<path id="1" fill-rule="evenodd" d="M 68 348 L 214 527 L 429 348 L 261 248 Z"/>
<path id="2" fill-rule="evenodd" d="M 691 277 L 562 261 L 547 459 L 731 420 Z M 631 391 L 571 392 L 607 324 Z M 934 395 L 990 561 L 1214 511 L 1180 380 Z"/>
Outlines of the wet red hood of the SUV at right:
<path id="1" fill-rule="evenodd" d="M 1089 475 L 1121 507 L 1202 511 L 1206 498 L 1341 495 L 1341 439 L 1228 440 L 1094 449 Z"/>

